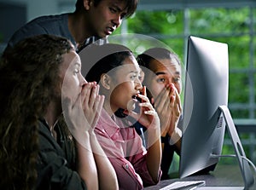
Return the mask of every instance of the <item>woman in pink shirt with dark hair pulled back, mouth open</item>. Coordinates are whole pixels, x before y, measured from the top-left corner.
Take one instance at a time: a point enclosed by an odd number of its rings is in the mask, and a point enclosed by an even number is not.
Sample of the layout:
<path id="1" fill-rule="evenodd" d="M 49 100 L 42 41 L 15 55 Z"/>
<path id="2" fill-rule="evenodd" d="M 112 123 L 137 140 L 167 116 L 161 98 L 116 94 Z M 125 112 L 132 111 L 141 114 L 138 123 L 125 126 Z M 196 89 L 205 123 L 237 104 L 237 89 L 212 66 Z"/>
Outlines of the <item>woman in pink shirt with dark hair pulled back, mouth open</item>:
<path id="1" fill-rule="evenodd" d="M 99 83 L 100 94 L 105 95 L 95 132 L 116 171 L 119 189 L 142 189 L 156 184 L 161 176 L 160 120 L 139 80 L 136 58 L 130 49 L 111 43 L 88 47 L 87 57 L 96 64 L 86 79 Z M 136 104 L 140 112 L 134 112 Z M 135 121 L 148 128 L 147 151 L 132 127 Z"/>

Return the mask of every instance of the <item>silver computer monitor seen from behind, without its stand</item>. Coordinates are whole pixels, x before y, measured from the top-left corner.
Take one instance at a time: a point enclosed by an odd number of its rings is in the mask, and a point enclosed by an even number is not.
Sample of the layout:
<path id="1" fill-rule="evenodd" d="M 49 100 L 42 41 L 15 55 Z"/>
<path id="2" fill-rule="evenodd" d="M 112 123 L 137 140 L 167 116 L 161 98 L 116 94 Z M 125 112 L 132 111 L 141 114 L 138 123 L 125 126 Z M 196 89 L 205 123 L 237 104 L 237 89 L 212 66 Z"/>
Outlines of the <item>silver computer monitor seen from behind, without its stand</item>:
<path id="1" fill-rule="evenodd" d="M 185 73 L 183 138 L 179 175 L 214 170 L 222 152 L 227 106 L 229 53 L 226 43 L 190 36 Z"/>

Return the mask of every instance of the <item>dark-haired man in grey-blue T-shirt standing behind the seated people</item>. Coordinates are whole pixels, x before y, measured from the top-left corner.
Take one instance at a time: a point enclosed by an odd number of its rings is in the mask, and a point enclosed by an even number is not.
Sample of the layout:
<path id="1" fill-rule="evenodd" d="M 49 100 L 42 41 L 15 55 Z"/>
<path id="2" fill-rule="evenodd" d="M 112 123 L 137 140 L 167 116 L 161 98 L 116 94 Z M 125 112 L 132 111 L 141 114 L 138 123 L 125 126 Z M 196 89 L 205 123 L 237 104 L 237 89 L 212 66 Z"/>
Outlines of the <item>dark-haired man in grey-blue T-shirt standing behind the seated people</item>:
<path id="1" fill-rule="evenodd" d="M 108 37 L 137 9 L 138 0 L 77 0 L 73 13 L 40 16 L 22 26 L 8 47 L 21 39 L 39 34 L 67 37 L 76 50 Z"/>

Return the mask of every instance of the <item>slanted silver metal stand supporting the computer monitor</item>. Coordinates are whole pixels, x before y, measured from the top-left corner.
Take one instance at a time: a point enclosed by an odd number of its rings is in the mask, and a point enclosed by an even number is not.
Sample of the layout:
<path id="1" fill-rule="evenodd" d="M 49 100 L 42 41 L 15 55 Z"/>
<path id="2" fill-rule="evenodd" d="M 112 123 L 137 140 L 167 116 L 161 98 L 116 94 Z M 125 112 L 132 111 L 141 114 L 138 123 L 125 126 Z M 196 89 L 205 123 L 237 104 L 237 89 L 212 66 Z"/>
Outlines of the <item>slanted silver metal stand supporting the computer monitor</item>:
<path id="1" fill-rule="evenodd" d="M 244 189 L 247 190 L 249 187 L 253 186 L 253 172 L 250 169 L 248 161 L 246 159 L 246 154 L 241 146 L 240 138 L 237 134 L 235 124 L 233 123 L 233 119 L 230 114 L 230 110 L 226 106 L 218 107 L 224 115 L 224 119 L 226 122 L 227 130 L 230 134 L 230 139 L 232 141 L 232 145 L 236 152 L 236 158 L 238 159 L 238 164 L 240 166 L 241 175 L 244 181 L 244 187 L 199 187 L 198 189 Z M 220 156 L 221 157 L 221 156 Z"/>

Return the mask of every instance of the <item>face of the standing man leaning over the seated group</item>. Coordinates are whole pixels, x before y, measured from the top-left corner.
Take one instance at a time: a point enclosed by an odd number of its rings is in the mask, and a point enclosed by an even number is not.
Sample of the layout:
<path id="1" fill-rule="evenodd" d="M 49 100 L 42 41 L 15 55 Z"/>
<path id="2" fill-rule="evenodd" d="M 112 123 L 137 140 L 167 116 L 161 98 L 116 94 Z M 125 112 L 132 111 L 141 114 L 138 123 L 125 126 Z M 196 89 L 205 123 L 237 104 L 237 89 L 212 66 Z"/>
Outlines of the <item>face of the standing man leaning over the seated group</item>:
<path id="1" fill-rule="evenodd" d="M 90 3 L 88 10 L 89 27 L 91 36 L 108 37 L 116 30 L 125 17 L 125 1 L 103 0 L 96 6 Z"/>

